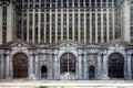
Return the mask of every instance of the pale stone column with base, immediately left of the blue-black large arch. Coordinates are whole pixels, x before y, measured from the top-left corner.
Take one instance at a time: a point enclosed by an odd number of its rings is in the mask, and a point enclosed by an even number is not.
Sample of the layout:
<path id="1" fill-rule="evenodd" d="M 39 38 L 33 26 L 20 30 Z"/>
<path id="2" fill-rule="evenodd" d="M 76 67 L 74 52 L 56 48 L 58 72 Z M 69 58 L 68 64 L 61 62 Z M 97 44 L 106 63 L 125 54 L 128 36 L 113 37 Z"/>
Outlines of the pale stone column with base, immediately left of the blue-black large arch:
<path id="1" fill-rule="evenodd" d="M 103 73 L 102 73 L 102 79 L 109 79 L 108 77 L 108 57 L 106 54 L 103 54 Z"/>

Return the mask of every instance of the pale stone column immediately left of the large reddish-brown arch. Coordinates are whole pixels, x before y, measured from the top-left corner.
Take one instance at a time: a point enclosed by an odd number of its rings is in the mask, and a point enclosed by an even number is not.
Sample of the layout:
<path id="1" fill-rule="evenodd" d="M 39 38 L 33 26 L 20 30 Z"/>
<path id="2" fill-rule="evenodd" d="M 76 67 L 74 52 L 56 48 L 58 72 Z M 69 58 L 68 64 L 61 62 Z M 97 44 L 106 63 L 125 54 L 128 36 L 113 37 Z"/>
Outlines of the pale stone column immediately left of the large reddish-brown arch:
<path id="1" fill-rule="evenodd" d="M 10 54 L 9 52 L 6 53 L 6 78 L 9 79 L 10 77 Z"/>

